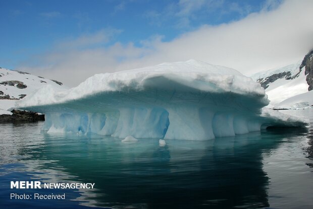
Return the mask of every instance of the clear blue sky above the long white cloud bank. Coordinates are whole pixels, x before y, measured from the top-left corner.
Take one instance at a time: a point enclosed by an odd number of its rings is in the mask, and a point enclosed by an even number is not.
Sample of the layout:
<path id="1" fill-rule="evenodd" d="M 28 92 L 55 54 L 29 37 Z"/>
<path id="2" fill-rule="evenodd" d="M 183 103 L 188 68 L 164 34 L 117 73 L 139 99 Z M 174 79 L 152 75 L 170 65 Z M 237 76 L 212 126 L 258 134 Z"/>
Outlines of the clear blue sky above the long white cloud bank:
<path id="1" fill-rule="evenodd" d="M 183 1 L 181 1 L 183 2 Z M 196 2 L 196 1 L 195 1 Z M 116 30 L 116 41 L 140 45 L 153 35 L 170 41 L 201 25 L 219 25 L 257 12 L 264 1 L 0 1 L 0 63 L 15 68 L 33 54 L 42 53 L 58 42 Z"/>

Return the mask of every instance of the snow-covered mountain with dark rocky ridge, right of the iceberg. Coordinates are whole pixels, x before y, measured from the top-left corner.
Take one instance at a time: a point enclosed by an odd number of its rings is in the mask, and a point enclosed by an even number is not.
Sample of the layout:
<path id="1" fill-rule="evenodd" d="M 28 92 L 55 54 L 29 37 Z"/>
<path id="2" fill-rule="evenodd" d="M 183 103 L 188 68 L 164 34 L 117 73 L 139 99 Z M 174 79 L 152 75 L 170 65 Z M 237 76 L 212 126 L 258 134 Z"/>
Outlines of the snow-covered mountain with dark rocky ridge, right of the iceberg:
<path id="1" fill-rule="evenodd" d="M 254 81 L 259 82 L 265 88 L 271 104 L 277 107 L 299 107 L 297 103 L 308 102 L 312 105 L 309 98 L 305 99 L 304 94 L 313 89 L 313 50 L 294 64 L 284 67 L 273 68 L 268 71 L 259 72 L 252 76 Z M 297 95 L 304 94 L 301 101 L 297 101 Z M 296 97 L 294 99 L 291 99 Z M 284 102 L 288 100 L 289 102 Z M 286 106 L 287 105 L 287 106 Z"/>

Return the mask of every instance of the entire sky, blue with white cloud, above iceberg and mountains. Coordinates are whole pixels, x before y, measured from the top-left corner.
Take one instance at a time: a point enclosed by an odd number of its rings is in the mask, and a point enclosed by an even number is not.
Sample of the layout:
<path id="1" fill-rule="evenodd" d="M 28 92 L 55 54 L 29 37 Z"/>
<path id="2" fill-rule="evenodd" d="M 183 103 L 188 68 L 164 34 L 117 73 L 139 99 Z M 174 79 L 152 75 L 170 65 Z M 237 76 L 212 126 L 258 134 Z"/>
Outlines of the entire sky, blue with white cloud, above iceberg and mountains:
<path id="1" fill-rule="evenodd" d="M 77 86 L 196 59 L 246 76 L 313 48 L 311 0 L 0 0 L 0 66 Z"/>

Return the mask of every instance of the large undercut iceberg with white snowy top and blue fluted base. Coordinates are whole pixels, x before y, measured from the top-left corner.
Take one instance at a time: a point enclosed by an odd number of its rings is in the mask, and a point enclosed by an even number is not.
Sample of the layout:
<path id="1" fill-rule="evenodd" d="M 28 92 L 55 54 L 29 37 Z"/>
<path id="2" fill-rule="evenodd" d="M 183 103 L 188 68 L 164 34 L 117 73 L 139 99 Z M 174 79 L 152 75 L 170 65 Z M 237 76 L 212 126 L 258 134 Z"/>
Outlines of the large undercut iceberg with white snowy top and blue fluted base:
<path id="1" fill-rule="evenodd" d="M 45 86 L 17 107 L 45 113 L 48 132 L 120 138 L 208 140 L 307 124 L 268 104 L 265 90 L 235 69 L 189 60 L 97 74 L 63 92 Z"/>

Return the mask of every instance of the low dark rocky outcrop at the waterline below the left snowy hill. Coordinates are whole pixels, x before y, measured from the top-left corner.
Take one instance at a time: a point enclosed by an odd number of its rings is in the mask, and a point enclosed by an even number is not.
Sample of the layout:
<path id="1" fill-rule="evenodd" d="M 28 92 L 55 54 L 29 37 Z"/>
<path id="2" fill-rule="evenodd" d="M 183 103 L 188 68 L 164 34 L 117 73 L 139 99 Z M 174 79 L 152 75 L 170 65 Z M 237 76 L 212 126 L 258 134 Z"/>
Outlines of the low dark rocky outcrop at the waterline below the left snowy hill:
<path id="1" fill-rule="evenodd" d="M 12 115 L 0 115 L 0 122 L 36 122 L 44 120 L 44 115 L 24 110 L 12 110 Z"/>

